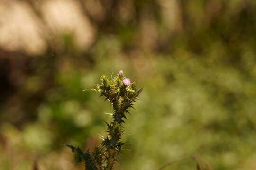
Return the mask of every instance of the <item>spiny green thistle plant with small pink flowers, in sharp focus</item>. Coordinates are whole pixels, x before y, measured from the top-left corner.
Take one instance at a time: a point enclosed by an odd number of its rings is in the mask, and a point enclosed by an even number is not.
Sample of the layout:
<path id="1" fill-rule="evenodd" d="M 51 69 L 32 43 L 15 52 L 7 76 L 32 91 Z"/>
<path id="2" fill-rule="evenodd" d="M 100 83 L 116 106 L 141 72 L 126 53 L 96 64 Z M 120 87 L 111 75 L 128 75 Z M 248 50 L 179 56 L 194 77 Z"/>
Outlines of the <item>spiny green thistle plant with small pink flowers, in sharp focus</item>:
<path id="1" fill-rule="evenodd" d="M 85 162 L 85 170 L 112 170 L 113 165 L 117 162 L 117 155 L 121 152 L 125 143 L 121 141 L 124 134 L 123 124 L 129 109 L 133 108 L 141 88 L 137 91 L 135 83 L 131 83 L 130 79 L 124 76 L 121 70 L 111 79 L 107 76 L 101 76 L 101 81 L 96 84 L 95 90 L 100 96 L 105 97 L 105 101 L 109 101 L 112 106 L 113 118 L 112 122 L 107 123 L 107 136 L 101 136 L 102 142 L 96 146 L 93 152 L 89 150 L 83 152 L 79 147 L 66 144 L 72 149 L 72 152 L 78 156 L 77 163 Z M 87 89 L 89 90 L 89 89 Z"/>

